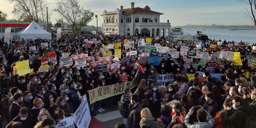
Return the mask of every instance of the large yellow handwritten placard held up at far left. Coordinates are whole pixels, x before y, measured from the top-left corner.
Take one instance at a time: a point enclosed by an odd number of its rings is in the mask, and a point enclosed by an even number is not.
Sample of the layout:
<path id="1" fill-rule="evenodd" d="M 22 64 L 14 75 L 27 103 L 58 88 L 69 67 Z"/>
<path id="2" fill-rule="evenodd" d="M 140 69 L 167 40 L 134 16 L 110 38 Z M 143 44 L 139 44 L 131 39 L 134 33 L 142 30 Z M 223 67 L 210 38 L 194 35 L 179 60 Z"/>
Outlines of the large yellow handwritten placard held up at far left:
<path id="1" fill-rule="evenodd" d="M 29 68 L 29 60 L 16 62 L 15 65 L 19 76 L 32 72 Z"/>

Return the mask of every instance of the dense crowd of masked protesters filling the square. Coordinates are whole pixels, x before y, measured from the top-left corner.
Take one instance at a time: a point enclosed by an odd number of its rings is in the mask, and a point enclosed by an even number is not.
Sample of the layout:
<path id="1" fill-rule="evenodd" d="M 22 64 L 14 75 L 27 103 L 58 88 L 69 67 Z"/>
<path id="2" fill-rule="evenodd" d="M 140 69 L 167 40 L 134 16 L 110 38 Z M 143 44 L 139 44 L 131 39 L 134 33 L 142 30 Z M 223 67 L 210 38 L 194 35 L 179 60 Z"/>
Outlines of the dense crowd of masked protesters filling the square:
<path id="1" fill-rule="evenodd" d="M 81 98 L 88 92 L 100 86 L 122 83 L 119 75 L 128 76 L 132 81 L 137 70 L 139 84 L 137 87 L 126 88 L 123 95 L 116 95 L 89 105 L 90 114 L 95 116 L 105 109 L 116 110 L 119 106 L 124 122 L 115 125 L 115 128 L 255 128 L 256 127 L 256 75 L 255 67 L 248 67 L 246 55 L 253 55 L 256 51 L 253 46 L 240 42 L 239 46 L 230 46 L 234 42 L 223 41 L 221 48 L 210 47 L 217 45 L 221 40 L 205 40 L 205 47 L 194 49 L 195 40 L 169 42 L 168 38 L 152 38 L 150 46 L 125 47 L 125 40 L 141 39 L 137 36 L 104 36 L 73 33 L 63 33 L 59 40 L 11 40 L 8 44 L 0 41 L 0 116 L 7 120 L 6 128 L 54 128 L 60 120 L 70 117 L 78 109 Z M 88 45 L 84 40 L 95 40 Z M 118 41 L 119 40 L 119 41 Z M 41 43 L 47 42 L 49 47 Z M 103 56 L 101 48 L 109 44 L 120 43 L 121 58 L 127 56 L 129 51 L 137 54 L 137 61 L 142 69 L 134 70 L 136 61 L 128 61 L 120 65 L 120 69 L 106 72 L 96 72 L 90 61 L 99 61 Z M 185 59 L 191 58 L 180 54 L 182 45 L 188 46 L 187 51 L 207 52 L 209 56 L 220 51 L 240 52 L 242 66 L 236 66 L 232 61 L 223 59 L 221 62 L 207 60 L 205 66 L 193 64 L 189 68 Z M 35 46 L 36 50 L 29 47 Z M 176 49 L 178 58 L 169 57 L 161 59 L 159 65 L 149 62 L 149 57 L 142 56 L 140 49 L 150 47 L 167 47 Z M 186 52 L 187 52 L 186 51 Z M 56 53 L 56 61 L 48 62 L 49 71 L 40 72 L 41 59 L 48 58 L 49 53 Z M 106 49 L 112 52 L 114 49 Z M 149 52 L 144 50 L 144 52 Z M 154 51 L 157 52 L 157 51 Z M 75 63 L 63 66 L 60 59 L 63 53 L 71 55 L 88 54 L 92 60 L 87 61 L 85 67 L 76 67 Z M 113 57 L 114 58 L 114 57 Z M 29 67 L 33 72 L 19 76 L 13 68 L 15 62 L 29 60 Z M 140 61 L 139 61 L 140 62 Z M 111 61 L 109 62 L 111 64 Z M 218 66 L 223 64 L 223 67 Z M 208 71 L 207 67 L 215 70 Z M 144 72 L 144 73 L 143 73 Z M 200 75 L 198 72 L 204 72 Z M 216 79 L 211 74 L 223 74 Z M 159 86 L 158 76 L 171 74 L 173 81 L 165 82 Z M 193 74 L 194 79 L 189 81 L 187 74 Z M 118 102 L 120 101 L 120 102 Z M 120 105 L 121 104 L 121 105 Z M 95 106 L 94 106 L 95 105 Z M 96 110 L 94 110 L 96 108 Z M 0 127 L 1 122 L 0 122 Z M 3 126 L 5 127 L 5 126 Z"/>

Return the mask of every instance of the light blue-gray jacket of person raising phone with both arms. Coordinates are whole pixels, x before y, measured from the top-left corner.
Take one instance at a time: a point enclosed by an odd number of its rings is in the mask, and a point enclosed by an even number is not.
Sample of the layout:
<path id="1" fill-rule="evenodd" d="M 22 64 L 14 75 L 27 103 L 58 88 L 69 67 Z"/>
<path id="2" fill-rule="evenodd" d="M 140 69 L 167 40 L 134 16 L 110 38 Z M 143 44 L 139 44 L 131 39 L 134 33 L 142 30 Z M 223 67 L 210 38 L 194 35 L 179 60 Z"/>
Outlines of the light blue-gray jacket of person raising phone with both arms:
<path id="1" fill-rule="evenodd" d="M 186 115 L 186 118 L 185 118 L 185 124 L 188 128 L 212 128 L 213 125 L 214 125 L 214 119 L 212 118 L 212 116 L 210 115 L 210 113 L 208 113 L 207 111 L 205 111 L 207 113 L 207 122 L 198 122 L 197 124 L 193 124 L 191 125 L 189 123 L 189 117 L 192 115 L 191 113 L 188 113 Z"/>

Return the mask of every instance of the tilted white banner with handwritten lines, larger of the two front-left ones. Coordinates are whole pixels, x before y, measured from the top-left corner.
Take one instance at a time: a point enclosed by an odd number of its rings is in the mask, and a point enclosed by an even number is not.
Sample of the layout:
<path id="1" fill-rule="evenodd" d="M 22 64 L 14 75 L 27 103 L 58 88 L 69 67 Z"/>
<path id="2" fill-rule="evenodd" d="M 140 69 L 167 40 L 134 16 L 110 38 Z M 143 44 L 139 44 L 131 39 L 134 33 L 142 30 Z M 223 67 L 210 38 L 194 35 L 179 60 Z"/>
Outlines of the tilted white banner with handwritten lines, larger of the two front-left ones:
<path id="1" fill-rule="evenodd" d="M 73 121 L 77 125 L 77 128 L 88 128 L 91 122 L 91 115 L 89 111 L 89 105 L 86 98 L 86 95 L 83 95 L 83 99 L 81 99 L 81 104 L 77 111 L 73 115 Z"/>

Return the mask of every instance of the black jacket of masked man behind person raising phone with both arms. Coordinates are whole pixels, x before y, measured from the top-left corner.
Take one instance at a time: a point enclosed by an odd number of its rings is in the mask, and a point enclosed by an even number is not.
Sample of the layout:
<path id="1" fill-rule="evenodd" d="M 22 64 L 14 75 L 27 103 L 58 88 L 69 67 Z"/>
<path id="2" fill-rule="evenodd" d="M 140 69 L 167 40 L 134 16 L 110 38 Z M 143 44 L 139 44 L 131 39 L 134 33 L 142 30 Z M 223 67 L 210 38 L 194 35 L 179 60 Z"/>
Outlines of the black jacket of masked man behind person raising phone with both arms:
<path id="1" fill-rule="evenodd" d="M 215 100 L 212 103 L 209 103 L 209 101 L 205 101 L 205 105 L 203 106 L 203 108 L 208 111 L 213 118 L 216 116 L 216 113 L 220 111 L 219 106 Z"/>

